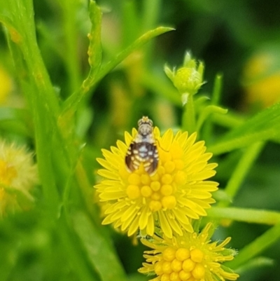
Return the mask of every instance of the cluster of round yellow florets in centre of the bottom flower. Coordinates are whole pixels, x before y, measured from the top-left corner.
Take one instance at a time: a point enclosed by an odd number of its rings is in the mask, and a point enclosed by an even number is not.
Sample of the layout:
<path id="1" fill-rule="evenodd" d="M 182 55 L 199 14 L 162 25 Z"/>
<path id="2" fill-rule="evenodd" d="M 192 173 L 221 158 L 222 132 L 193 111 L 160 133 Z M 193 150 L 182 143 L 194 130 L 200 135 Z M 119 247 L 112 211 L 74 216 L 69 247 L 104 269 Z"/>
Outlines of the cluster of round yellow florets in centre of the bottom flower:
<path id="1" fill-rule="evenodd" d="M 204 254 L 200 249 L 174 249 L 162 252 L 162 261 L 155 263 L 155 273 L 162 281 L 198 281 L 205 275 Z"/>

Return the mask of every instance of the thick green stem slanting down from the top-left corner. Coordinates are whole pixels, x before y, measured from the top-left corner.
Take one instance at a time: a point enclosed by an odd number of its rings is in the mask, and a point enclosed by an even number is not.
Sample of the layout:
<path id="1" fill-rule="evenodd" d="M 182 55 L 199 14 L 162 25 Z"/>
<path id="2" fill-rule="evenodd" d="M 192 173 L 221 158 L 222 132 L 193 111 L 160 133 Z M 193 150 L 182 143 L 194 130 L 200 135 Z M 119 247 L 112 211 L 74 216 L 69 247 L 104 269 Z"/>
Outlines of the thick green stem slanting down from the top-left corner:
<path id="1" fill-rule="evenodd" d="M 55 119 L 59 111 L 58 99 L 36 42 L 32 1 L 6 2 L 8 2 L 7 15 L 13 22 L 13 28 L 8 28 L 8 45 L 34 122 L 36 158 L 45 204 L 48 205 L 50 213 L 56 217 L 59 195 L 50 151 L 52 151 L 52 136 L 59 134 Z"/>

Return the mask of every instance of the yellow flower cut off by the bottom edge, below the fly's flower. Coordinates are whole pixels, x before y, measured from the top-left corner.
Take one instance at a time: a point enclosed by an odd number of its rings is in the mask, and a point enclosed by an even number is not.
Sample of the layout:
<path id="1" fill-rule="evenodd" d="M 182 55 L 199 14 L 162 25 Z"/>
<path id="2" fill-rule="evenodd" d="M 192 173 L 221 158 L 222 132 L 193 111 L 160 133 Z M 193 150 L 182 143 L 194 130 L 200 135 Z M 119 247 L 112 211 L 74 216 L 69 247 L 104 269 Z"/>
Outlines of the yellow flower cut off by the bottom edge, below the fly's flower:
<path id="1" fill-rule="evenodd" d="M 221 266 L 221 263 L 231 261 L 236 254 L 234 249 L 225 249 L 230 238 L 219 245 L 211 242 L 211 227 L 211 224 L 207 224 L 199 234 L 186 232 L 172 239 L 156 235 L 151 240 L 142 239 L 141 242 L 153 250 L 144 252 L 147 262 L 143 263 L 144 267 L 139 272 L 157 275 L 153 281 L 237 280 L 238 274 Z"/>

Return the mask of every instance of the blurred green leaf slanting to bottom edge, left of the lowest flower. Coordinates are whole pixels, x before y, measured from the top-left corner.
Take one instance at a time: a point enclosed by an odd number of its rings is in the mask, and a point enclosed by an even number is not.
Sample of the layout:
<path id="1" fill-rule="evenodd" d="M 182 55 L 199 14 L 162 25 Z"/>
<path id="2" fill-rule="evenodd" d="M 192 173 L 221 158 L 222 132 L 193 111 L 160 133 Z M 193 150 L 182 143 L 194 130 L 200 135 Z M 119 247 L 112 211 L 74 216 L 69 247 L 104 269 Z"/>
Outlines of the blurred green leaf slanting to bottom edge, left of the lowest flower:
<path id="1" fill-rule="evenodd" d="M 97 270 L 102 280 L 127 280 L 125 272 L 120 266 L 120 261 L 116 257 L 116 252 L 90 219 L 82 212 L 78 212 L 73 216 L 73 225 L 92 266 Z"/>

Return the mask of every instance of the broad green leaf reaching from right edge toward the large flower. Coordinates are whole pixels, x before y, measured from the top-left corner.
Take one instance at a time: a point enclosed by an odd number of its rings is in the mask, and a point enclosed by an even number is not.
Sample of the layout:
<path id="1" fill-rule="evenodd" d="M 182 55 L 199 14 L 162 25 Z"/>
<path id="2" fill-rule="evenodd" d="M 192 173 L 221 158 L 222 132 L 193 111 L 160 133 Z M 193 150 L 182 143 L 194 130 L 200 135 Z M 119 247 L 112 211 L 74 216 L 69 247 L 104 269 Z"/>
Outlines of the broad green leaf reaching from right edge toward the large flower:
<path id="1" fill-rule="evenodd" d="M 280 138 L 280 102 L 234 128 L 220 142 L 209 146 L 215 155 L 248 146 L 253 142 Z"/>

